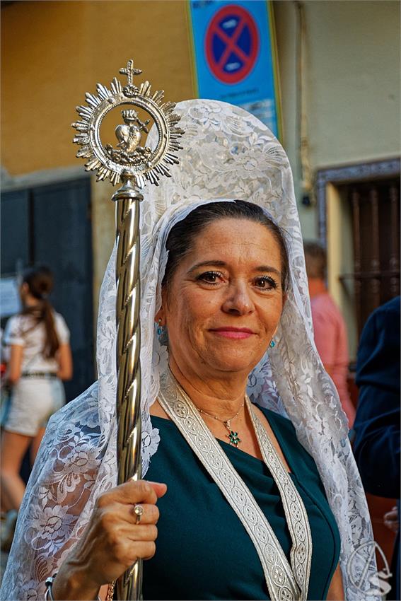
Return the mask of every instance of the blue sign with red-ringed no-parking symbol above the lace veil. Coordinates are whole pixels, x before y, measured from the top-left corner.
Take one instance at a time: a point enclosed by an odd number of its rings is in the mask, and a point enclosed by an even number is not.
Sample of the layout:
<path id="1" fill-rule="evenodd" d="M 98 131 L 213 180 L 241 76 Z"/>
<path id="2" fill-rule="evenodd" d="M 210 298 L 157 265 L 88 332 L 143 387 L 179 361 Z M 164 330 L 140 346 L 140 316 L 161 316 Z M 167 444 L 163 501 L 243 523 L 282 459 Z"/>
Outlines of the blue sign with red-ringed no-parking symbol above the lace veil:
<path id="1" fill-rule="evenodd" d="M 189 0 L 200 98 L 235 104 L 281 136 L 272 6 L 265 0 Z"/>

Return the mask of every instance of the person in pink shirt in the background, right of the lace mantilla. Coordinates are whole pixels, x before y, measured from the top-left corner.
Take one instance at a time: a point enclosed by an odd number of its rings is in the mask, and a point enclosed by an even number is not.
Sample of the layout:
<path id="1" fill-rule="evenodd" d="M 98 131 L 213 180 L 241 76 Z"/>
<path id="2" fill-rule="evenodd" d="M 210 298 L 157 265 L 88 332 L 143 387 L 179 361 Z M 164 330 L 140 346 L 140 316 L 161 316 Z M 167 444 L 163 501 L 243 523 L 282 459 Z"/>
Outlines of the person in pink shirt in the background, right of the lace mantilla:
<path id="1" fill-rule="evenodd" d="M 347 387 L 348 341 L 344 317 L 327 292 L 325 284 L 326 252 L 316 242 L 303 245 L 312 308 L 315 344 L 325 370 L 337 387 L 339 399 L 347 415 L 349 428 L 355 419 L 355 408 Z"/>

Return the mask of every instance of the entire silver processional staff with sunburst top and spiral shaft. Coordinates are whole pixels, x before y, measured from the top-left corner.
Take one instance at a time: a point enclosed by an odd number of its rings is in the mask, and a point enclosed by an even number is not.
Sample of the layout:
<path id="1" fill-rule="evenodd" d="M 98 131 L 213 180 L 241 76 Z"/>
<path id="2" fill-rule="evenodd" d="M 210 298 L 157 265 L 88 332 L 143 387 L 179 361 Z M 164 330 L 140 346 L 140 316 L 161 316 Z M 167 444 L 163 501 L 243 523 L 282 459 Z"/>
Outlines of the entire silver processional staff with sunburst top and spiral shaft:
<path id="1" fill-rule="evenodd" d="M 117 462 L 118 484 L 127 479 L 141 478 L 141 327 L 140 327 L 140 189 L 146 181 L 158 185 L 161 175 L 170 176 L 170 165 L 178 163 L 175 151 L 184 132 L 176 127 L 180 116 L 174 111 L 175 103 L 163 103 L 164 92 L 151 92 L 149 81 L 134 84 L 134 76 L 141 74 L 129 60 L 120 69 L 127 76 L 122 86 L 117 78 L 110 90 L 97 84 L 98 95 L 86 93 L 85 106 L 76 107 L 81 120 L 72 124 L 78 130 L 74 143 L 80 144 L 76 156 L 88 159 L 87 171 L 97 171 L 96 179 L 109 178 L 113 185 L 122 186 L 112 195 L 116 203 L 117 239 Z M 124 124 L 117 125 L 117 148 L 100 141 L 100 125 L 110 110 L 125 105 Z M 150 119 L 141 121 L 136 109 L 142 109 Z M 149 132 L 153 119 L 158 131 L 156 148 L 141 146 L 143 134 Z M 141 561 L 117 581 L 117 597 L 121 600 L 141 598 Z M 114 583 L 110 585 L 112 598 Z"/>

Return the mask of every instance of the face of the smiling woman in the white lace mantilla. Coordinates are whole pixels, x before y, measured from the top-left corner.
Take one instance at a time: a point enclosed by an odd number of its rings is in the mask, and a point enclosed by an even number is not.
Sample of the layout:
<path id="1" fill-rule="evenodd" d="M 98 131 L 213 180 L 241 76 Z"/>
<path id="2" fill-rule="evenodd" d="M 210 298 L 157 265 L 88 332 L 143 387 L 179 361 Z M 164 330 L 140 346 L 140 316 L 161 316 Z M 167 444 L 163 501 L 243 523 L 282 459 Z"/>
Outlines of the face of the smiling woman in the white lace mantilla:
<path id="1" fill-rule="evenodd" d="M 274 337 L 284 298 L 272 233 L 248 219 L 221 218 L 182 259 L 156 317 L 182 373 L 245 376 Z"/>

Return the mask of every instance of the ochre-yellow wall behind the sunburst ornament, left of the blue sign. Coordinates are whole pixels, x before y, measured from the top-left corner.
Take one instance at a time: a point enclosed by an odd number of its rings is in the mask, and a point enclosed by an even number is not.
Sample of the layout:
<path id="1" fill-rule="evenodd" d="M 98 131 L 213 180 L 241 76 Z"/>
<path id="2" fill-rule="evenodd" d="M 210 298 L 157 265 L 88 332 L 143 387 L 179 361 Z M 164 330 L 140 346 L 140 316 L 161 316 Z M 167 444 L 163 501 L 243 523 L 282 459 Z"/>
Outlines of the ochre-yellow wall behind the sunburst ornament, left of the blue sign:
<path id="1" fill-rule="evenodd" d="M 2 7 L 1 164 L 11 175 L 78 165 L 75 107 L 95 83 L 108 86 L 129 58 L 169 100 L 193 98 L 188 49 L 182 0 Z"/>

